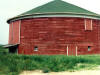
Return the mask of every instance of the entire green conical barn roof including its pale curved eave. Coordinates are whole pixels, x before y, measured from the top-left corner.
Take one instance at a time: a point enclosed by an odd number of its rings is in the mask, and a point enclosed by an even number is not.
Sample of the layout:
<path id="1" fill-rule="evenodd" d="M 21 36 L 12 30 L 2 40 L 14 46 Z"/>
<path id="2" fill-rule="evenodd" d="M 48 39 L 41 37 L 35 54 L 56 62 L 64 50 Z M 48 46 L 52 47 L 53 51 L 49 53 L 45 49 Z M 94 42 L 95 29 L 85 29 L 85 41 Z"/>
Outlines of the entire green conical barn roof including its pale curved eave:
<path id="1" fill-rule="evenodd" d="M 54 0 L 21 15 L 9 19 L 7 22 L 35 17 L 82 17 L 100 19 L 100 15 L 80 8 L 76 5 L 64 2 L 62 0 Z"/>

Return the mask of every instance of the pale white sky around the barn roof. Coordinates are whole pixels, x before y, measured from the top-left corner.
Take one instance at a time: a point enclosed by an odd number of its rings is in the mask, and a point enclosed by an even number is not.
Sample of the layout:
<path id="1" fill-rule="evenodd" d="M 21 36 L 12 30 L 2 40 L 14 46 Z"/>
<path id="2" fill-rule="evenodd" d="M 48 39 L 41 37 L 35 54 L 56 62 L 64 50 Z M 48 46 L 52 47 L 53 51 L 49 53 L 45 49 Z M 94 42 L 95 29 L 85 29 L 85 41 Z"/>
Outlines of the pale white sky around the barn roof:
<path id="1" fill-rule="evenodd" d="M 0 44 L 8 44 L 7 19 L 53 0 L 0 0 Z M 63 0 L 100 14 L 100 0 Z"/>

